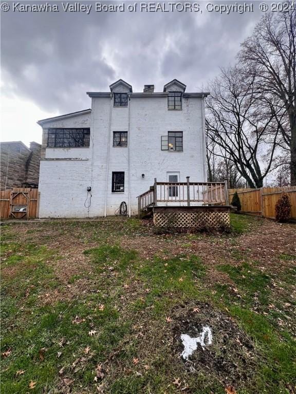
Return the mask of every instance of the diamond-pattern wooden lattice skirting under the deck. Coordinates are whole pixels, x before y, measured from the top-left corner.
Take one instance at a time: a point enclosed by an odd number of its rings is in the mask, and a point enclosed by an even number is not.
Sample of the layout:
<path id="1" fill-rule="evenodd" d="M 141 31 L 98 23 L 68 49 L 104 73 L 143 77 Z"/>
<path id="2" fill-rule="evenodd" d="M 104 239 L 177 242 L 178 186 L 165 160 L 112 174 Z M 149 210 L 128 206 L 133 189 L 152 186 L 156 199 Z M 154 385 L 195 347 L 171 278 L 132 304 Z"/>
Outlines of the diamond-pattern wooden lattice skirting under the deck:
<path id="1" fill-rule="evenodd" d="M 154 212 L 158 227 L 213 228 L 230 227 L 229 212 Z"/>

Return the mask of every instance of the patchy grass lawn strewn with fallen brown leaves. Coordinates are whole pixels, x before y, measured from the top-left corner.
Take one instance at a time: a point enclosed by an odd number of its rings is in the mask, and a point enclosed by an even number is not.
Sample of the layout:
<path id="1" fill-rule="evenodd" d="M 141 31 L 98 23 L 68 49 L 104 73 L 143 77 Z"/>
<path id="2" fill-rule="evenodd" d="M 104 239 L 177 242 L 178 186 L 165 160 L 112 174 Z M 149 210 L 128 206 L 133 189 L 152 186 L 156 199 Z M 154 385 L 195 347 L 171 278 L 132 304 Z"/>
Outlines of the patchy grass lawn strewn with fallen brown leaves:
<path id="1" fill-rule="evenodd" d="M 3 225 L 2 393 L 294 394 L 296 227 L 231 220 Z M 212 344 L 184 360 L 204 326 Z"/>

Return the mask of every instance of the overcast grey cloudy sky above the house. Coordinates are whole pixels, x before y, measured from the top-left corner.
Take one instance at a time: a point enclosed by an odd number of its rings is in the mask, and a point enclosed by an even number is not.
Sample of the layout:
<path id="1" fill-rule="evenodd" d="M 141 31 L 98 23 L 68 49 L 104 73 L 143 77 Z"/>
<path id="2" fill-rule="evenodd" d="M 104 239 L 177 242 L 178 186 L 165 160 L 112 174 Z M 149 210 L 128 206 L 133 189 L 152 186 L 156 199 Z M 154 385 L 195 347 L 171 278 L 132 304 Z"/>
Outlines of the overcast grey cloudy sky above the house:
<path id="1" fill-rule="evenodd" d="M 262 15 L 255 2 L 253 13 L 229 15 L 207 12 L 209 1 L 199 2 L 202 13 L 96 12 L 95 2 L 80 2 L 93 6 L 88 15 L 64 12 L 58 1 L 48 3 L 60 12 L 13 11 L 7 3 L 10 11 L 1 12 L 1 141 L 27 145 L 41 142 L 36 121 L 90 108 L 86 91 L 108 91 L 119 78 L 133 91 L 144 84 L 162 91 L 173 78 L 187 91 L 206 90 L 220 67 L 235 62 Z"/>

